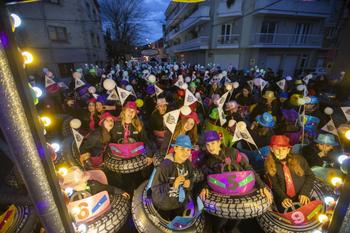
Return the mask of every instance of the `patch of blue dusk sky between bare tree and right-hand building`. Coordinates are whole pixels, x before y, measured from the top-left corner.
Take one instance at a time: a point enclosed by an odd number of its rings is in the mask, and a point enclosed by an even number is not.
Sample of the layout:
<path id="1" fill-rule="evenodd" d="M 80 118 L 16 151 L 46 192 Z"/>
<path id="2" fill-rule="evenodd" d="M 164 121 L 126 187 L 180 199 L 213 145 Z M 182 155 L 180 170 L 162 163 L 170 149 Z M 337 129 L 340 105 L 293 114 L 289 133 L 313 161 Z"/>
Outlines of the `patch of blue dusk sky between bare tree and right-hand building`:
<path id="1" fill-rule="evenodd" d="M 162 37 L 162 23 L 165 22 L 164 12 L 171 0 L 144 0 L 144 10 L 148 13 L 145 24 L 149 33 L 145 35 L 146 39 L 155 41 Z"/>

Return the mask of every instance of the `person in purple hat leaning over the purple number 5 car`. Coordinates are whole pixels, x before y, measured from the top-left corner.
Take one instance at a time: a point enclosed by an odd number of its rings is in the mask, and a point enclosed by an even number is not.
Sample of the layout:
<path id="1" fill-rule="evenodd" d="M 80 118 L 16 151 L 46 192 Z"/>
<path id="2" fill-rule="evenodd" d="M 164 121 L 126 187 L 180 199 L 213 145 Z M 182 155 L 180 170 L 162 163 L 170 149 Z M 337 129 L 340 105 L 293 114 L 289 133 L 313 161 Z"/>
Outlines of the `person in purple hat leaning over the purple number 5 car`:
<path id="1" fill-rule="evenodd" d="M 249 162 L 243 157 L 244 155 L 242 155 L 241 152 L 233 147 L 225 147 L 221 144 L 220 136 L 216 131 L 206 131 L 204 137 L 206 143 L 206 161 L 202 170 L 205 176 L 231 171 L 253 171 L 253 168 L 249 165 Z M 258 174 L 255 172 L 254 174 L 256 186 L 260 190 L 260 193 L 272 202 L 272 195 L 266 188 L 265 183 Z M 204 184 L 204 188 L 200 193 L 201 199 L 204 200 L 208 194 L 208 185 Z M 210 217 L 211 222 L 215 223 L 212 226 L 212 232 L 222 232 L 223 230 L 225 230 L 224 232 L 233 231 L 235 220 L 216 216 Z"/>

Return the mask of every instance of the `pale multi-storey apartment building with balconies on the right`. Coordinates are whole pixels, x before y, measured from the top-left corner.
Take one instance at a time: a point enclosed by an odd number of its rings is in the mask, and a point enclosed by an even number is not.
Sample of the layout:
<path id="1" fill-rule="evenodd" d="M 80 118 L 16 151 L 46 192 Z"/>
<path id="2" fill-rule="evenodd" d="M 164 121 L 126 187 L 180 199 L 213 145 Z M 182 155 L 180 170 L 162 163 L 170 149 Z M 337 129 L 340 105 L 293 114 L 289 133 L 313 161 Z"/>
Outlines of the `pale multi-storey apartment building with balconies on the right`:
<path id="1" fill-rule="evenodd" d="M 170 3 L 165 45 L 172 60 L 284 75 L 326 67 L 342 0 L 209 0 Z"/>

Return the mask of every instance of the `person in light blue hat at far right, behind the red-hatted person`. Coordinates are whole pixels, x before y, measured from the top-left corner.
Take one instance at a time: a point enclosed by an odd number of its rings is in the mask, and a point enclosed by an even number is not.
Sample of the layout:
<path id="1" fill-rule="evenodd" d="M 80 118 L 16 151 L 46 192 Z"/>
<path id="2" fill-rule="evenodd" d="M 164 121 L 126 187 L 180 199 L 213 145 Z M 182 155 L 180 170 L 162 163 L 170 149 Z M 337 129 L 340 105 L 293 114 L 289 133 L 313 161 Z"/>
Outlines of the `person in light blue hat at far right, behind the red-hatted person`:
<path id="1" fill-rule="evenodd" d="M 313 143 L 303 147 L 302 154 L 310 167 L 334 167 L 339 155 L 338 145 L 333 134 L 319 134 Z"/>

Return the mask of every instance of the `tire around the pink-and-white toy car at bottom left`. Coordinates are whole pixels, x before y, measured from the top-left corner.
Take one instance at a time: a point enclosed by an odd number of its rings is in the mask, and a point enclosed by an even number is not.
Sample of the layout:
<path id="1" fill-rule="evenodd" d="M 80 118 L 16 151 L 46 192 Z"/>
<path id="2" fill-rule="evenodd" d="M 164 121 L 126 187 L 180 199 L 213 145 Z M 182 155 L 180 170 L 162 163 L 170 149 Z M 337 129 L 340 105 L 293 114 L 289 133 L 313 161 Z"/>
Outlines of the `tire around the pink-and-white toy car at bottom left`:
<path id="1" fill-rule="evenodd" d="M 110 209 L 94 222 L 88 223 L 87 232 L 118 232 L 125 224 L 130 214 L 130 201 L 115 194 L 110 194 L 109 198 Z"/>

